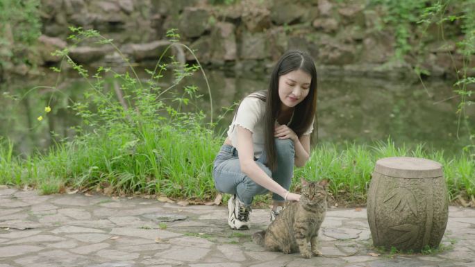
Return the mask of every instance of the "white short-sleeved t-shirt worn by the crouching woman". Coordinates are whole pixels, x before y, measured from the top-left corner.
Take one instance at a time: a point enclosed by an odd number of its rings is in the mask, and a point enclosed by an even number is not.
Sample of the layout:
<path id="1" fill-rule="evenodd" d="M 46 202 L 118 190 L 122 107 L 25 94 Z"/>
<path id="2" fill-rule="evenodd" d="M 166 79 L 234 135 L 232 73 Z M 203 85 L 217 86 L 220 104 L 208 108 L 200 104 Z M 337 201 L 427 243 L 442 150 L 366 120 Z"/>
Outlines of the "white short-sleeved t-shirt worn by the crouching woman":
<path id="1" fill-rule="evenodd" d="M 229 126 L 228 137 L 231 139 L 231 144 L 238 147 L 238 127 L 241 126 L 252 132 L 252 143 L 254 147 L 254 157 L 259 158 L 263 153 L 265 140 L 264 140 L 264 114 L 265 114 L 265 102 L 259 98 L 253 97 L 256 93 L 251 94 L 244 98 L 238 108 L 231 126 Z M 293 118 L 293 114 L 292 114 Z M 289 123 L 292 121 L 290 118 Z M 315 119 L 314 119 L 315 120 Z M 276 125 L 279 125 L 276 121 Z M 303 135 L 310 135 L 313 131 L 313 122 Z"/>

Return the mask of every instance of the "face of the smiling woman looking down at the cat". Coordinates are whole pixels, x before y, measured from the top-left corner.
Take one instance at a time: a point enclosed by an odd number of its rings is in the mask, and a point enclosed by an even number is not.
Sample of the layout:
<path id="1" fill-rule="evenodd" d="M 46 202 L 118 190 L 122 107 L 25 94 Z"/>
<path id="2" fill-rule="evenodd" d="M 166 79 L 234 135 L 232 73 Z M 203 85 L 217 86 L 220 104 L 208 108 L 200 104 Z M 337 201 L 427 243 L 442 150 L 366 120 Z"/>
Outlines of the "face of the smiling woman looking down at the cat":
<path id="1" fill-rule="evenodd" d="M 282 110 L 295 107 L 306 98 L 310 91 L 312 76 L 301 69 L 290 71 L 278 78 L 278 96 L 281 98 Z"/>

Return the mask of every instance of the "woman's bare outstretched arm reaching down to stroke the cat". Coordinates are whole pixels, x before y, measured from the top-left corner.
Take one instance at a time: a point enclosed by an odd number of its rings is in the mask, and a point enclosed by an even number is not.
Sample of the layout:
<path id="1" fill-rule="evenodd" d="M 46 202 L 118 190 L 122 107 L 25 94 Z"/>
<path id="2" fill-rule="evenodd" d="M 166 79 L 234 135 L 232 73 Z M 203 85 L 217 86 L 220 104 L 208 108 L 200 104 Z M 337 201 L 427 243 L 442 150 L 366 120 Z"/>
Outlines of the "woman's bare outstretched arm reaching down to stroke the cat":
<path id="1" fill-rule="evenodd" d="M 287 189 L 281 187 L 276 181 L 265 173 L 258 164 L 254 161 L 254 149 L 252 144 L 252 132 L 241 126 L 236 126 L 238 129 L 238 153 L 241 171 L 251 178 L 256 184 L 261 187 L 278 194 L 286 200 L 299 200 L 300 195 L 290 193 Z"/>

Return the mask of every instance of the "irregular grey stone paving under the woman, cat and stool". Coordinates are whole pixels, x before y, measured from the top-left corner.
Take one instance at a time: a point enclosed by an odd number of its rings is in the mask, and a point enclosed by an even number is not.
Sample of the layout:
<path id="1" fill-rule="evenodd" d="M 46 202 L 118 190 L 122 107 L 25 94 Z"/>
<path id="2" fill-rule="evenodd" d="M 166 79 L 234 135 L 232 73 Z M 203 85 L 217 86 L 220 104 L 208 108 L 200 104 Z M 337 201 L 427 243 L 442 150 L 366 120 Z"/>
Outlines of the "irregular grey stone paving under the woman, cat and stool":
<path id="1" fill-rule="evenodd" d="M 254 209 L 247 231 L 228 228 L 226 214 L 223 206 L 0 186 L 0 267 L 475 266 L 475 209 L 449 208 L 442 243 L 453 248 L 435 255 L 378 255 L 365 209 L 328 209 L 319 235 L 324 257 L 312 259 L 251 241 L 269 223 L 269 209 Z"/>

